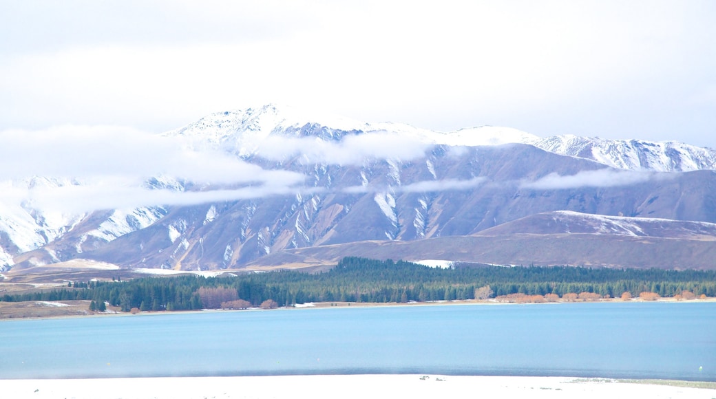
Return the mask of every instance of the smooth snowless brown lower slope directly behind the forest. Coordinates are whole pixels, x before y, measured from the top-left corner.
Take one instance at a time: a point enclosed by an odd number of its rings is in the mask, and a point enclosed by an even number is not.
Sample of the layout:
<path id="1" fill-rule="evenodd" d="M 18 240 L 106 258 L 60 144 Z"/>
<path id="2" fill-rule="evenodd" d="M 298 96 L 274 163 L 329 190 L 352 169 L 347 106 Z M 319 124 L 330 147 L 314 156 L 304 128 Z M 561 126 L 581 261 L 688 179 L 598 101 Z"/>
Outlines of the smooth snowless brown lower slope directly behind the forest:
<path id="1" fill-rule="evenodd" d="M 619 235 L 554 234 L 440 237 L 363 241 L 284 250 L 249 267 L 335 265 L 344 256 L 375 259 L 440 259 L 494 265 L 575 265 L 660 269 L 716 269 L 716 240 L 674 240 Z"/>

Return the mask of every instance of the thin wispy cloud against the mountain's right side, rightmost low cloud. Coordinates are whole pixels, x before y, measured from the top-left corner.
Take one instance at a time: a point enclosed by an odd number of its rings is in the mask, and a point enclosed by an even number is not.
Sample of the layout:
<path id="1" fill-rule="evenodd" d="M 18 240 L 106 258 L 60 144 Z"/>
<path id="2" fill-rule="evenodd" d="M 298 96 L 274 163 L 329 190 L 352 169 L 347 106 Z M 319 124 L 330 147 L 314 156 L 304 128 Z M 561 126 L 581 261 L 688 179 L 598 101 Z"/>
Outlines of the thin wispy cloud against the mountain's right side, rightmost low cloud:
<path id="1" fill-rule="evenodd" d="M 523 189 L 574 189 L 580 187 L 619 187 L 647 182 L 652 179 L 665 178 L 667 174 L 655 172 L 634 172 L 611 168 L 587 170 L 561 176 L 557 173 L 548 174 L 534 182 L 522 182 Z M 670 174 L 671 175 L 671 174 Z"/>

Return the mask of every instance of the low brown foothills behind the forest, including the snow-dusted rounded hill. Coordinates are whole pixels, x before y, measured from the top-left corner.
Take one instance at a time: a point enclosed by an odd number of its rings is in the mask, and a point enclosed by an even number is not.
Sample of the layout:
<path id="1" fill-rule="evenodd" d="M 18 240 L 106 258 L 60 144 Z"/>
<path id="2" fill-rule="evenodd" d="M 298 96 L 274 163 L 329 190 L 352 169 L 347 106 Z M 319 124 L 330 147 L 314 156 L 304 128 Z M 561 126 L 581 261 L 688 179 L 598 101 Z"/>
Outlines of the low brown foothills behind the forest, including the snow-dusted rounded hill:
<path id="1" fill-rule="evenodd" d="M 249 267 L 319 267 L 344 256 L 440 259 L 494 265 L 699 269 L 716 267 L 716 224 L 639 217 L 545 212 L 469 237 L 362 241 L 297 248 L 261 257 Z"/>

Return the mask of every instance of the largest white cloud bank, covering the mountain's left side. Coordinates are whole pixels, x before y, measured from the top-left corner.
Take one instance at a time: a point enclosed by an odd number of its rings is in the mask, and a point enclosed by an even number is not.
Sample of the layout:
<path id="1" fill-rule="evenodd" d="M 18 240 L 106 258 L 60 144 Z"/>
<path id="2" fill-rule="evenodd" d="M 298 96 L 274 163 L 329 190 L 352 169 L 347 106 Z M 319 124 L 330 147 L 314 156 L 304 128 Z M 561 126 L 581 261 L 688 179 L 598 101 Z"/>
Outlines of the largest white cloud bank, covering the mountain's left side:
<path id="1" fill-rule="evenodd" d="M 125 127 L 7 130 L 0 132 L 0 143 L 0 202 L 40 210 L 242 200 L 295 191 L 306 180 L 304 174 L 263 169 L 218 150 L 194 150 L 181 137 Z M 200 189 L 147 188 L 155 177 Z"/>

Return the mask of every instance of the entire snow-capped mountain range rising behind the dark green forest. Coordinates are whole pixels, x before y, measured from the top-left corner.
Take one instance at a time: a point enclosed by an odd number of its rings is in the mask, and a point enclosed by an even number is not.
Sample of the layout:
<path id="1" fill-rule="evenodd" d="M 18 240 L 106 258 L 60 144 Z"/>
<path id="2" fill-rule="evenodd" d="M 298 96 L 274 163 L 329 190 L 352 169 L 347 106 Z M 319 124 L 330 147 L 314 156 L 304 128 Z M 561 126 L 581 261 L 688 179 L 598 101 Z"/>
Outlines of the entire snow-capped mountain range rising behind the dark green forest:
<path id="1" fill-rule="evenodd" d="M 642 241 L 636 239 L 646 235 L 670 240 L 664 248 L 688 241 L 682 247 L 702 256 L 706 252 L 695 247 L 708 246 L 714 236 L 704 226 L 716 222 L 712 170 L 716 154 L 687 144 L 540 139 L 500 127 L 440 133 L 405 124 L 304 114 L 274 105 L 212 114 L 162 136 L 181 139 L 198 152 L 231 154 L 263 170 L 292 172 L 305 179 L 282 194 L 201 205 L 77 215 L 54 215 L 32 204 L 4 208 L 0 210 L 4 270 L 13 267 L 21 272 L 80 258 L 125 268 L 241 268 L 274 265 L 283 256 L 311 251 L 364 248 L 362 242 L 378 242 L 387 251 L 376 252 L 379 257 L 415 259 L 397 250 L 410 247 L 424 258 L 442 259 L 437 256 L 450 254 L 428 243 L 440 242 L 459 254 L 464 251 L 445 243 L 488 240 L 497 250 L 497 239 L 490 237 L 517 235 L 521 245 L 541 242 L 544 248 L 554 246 L 556 241 L 550 240 L 554 235 L 569 238 L 559 241 L 563 244 L 549 257 L 503 251 L 493 260 L 480 257 L 480 261 L 530 263 L 533 256 L 544 264 L 630 267 L 629 262 L 642 263 L 634 256 L 621 262 L 596 257 L 592 261 L 586 255 L 558 257 L 557 252 L 568 254 L 580 242 L 612 245 L 605 240 L 621 240 L 624 248 L 642 248 L 634 252 L 642 254 L 653 250 L 637 245 Z M 9 184 L 82 184 L 41 177 L 34 181 Z M 236 188 L 207 187 L 167 176 L 147 179 L 145 187 L 178 193 Z M 251 185 L 238 188 L 251 189 Z M 655 226 L 653 220 L 672 225 L 649 227 Z M 664 233 L 652 235 L 659 229 Z M 577 240 L 578 235 L 590 238 Z M 528 244 L 528 236 L 540 240 Z M 627 236 L 631 241 L 625 240 Z M 479 254 L 473 255 L 477 261 Z M 320 265 L 333 259 L 321 256 L 316 255 L 316 262 L 302 258 L 299 263 Z M 450 260 L 471 261 L 457 257 Z"/>

